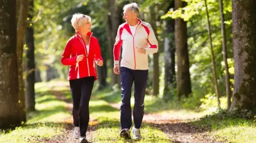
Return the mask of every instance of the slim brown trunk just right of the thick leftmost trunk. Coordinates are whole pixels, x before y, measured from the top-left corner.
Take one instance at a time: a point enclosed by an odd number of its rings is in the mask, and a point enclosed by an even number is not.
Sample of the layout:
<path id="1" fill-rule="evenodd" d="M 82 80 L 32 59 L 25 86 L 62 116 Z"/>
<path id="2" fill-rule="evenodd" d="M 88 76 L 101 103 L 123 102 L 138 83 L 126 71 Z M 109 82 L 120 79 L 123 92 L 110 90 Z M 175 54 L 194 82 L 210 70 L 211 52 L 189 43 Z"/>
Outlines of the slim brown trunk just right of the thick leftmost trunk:
<path id="1" fill-rule="evenodd" d="M 19 72 L 19 107 L 21 121 L 26 122 L 26 105 L 25 105 L 25 86 L 23 80 L 22 69 L 22 54 L 23 54 L 23 41 L 25 30 L 27 26 L 28 16 L 28 0 L 20 0 L 19 21 L 17 23 L 17 62 Z"/>

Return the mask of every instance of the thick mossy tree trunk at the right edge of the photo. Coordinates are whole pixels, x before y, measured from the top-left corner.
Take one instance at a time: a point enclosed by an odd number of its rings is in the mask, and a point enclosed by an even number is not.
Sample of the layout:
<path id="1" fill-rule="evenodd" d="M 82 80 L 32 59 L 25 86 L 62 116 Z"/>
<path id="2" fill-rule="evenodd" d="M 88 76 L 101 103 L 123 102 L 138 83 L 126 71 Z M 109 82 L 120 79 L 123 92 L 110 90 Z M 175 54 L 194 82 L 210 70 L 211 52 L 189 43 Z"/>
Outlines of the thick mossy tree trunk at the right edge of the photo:
<path id="1" fill-rule="evenodd" d="M 256 1 L 232 1 L 234 94 L 231 110 L 256 108 Z"/>

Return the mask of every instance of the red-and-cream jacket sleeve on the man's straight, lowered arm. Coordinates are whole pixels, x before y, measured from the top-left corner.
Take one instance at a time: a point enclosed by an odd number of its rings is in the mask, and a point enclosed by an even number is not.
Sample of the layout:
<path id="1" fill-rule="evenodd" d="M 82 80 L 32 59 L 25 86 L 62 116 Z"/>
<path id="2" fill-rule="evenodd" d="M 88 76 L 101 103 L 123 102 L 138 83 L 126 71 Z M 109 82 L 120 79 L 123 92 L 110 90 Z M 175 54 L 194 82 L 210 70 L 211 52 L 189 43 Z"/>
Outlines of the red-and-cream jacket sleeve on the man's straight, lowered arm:
<path id="1" fill-rule="evenodd" d="M 119 57 L 121 52 L 121 46 L 123 40 L 121 40 L 121 33 L 123 32 L 123 28 L 121 26 L 118 27 L 117 36 L 115 37 L 113 55 L 114 55 L 114 64 L 119 64 Z"/>

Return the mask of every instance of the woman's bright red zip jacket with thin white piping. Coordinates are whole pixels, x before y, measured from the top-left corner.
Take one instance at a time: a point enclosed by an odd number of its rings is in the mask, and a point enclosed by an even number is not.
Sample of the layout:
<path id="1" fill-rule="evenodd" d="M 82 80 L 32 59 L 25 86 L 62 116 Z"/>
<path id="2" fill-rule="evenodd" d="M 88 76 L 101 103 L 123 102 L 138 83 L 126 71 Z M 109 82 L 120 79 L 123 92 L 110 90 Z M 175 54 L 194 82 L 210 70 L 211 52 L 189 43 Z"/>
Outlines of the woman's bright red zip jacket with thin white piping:
<path id="1" fill-rule="evenodd" d="M 68 42 L 62 54 L 62 64 L 70 66 L 68 80 L 80 79 L 82 77 L 94 76 L 97 79 L 97 72 L 95 61 L 102 60 L 100 45 L 97 38 L 92 36 L 92 32 L 88 32 L 90 36 L 89 51 L 86 48 L 86 42 L 76 32 Z M 84 58 L 80 62 L 76 62 L 78 55 L 84 55 Z"/>

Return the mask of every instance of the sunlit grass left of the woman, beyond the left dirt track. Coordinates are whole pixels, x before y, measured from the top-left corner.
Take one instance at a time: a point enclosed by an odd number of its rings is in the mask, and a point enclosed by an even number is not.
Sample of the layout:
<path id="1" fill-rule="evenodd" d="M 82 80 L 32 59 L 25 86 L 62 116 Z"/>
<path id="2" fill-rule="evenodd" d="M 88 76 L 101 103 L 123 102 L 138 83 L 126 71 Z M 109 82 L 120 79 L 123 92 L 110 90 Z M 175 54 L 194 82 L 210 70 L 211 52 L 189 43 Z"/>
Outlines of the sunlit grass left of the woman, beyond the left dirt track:
<path id="1" fill-rule="evenodd" d="M 66 103 L 50 92 L 50 87 L 54 84 L 56 83 L 35 84 L 36 111 L 27 114 L 26 124 L 0 132 L 0 142 L 41 142 L 63 134 L 65 124 L 62 121 L 71 115 L 66 111 Z"/>

